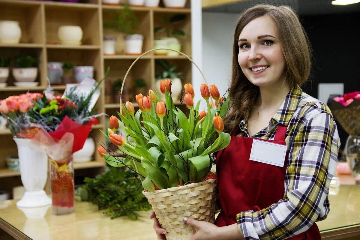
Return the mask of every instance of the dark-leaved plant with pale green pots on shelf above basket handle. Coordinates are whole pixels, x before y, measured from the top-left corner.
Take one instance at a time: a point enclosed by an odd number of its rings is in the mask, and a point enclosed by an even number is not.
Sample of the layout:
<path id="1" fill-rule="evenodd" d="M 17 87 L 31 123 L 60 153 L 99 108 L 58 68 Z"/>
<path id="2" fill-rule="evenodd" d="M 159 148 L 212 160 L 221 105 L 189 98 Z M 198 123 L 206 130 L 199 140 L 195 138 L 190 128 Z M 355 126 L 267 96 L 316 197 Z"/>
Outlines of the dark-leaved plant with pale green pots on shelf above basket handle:
<path id="1" fill-rule="evenodd" d="M 174 29 L 174 26 L 176 24 L 179 24 L 181 22 L 184 22 L 186 19 L 186 14 L 176 14 L 172 17 L 163 16 L 161 18 L 164 25 L 162 27 L 155 27 L 154 28 L 154 34 L 158 34 L 161 32 L 165 32 L 166 37 L 162 37 L 162 39 L 155 40 L 155 48 L 163 47 L 163 45 L 167 45 L 167 48 L 174 49 L 177 51 L 181 50 L 181 44 L 179 39 L 177 37 L 185 37 L 186 34 L 184 30 L 181 29 Z M 172 26 L 173 25 L 173 26 Z M 160 52 L 161 51 L 161 52 Z M 155 51 L 155 54 L 162 55 L 164 53 L 164 50 L 158 50 Z M 176 53 L 174 51 L 166 51 L 167 55 L 177 56 L 179 53 Z"/>

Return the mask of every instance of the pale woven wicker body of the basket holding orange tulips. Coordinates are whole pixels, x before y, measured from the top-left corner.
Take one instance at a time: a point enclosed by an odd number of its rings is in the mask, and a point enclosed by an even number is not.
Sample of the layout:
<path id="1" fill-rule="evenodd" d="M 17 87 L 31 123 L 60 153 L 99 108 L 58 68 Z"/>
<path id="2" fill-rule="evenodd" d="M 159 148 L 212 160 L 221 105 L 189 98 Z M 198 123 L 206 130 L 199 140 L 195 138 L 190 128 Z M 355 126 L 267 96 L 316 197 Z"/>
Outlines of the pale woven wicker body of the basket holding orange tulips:
<path id="1" fill-rule="evenodd" d="M 184 223 L 184 217 L 214 223 L 216 183 L 215 179 L 179 187 L 143 191 L 148 198 L 167 240 L 190 239 L 195 228 Z"/>

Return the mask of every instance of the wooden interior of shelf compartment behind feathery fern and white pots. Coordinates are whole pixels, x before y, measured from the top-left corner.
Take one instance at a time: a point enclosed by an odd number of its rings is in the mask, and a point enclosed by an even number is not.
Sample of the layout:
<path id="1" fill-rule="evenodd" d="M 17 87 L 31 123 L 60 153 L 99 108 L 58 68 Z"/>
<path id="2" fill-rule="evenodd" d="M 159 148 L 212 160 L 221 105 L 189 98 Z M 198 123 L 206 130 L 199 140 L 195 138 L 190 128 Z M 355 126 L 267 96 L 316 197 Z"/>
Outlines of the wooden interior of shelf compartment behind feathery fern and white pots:
<path id="1" fill-rule="evenodd" d="M 114 20 L 111 18 L 111 13 L 117 13 L 118 10 L 115 8 L 103 8 L 103 22 L 114 22 Z M 150 49 L 152 49 L 152 40 L 151 40 L 151 32 L 150 32 L 150 12 L 149 11 L 134 11 L 134 14 L 136 15 L 136 17 L 139 19 L 139 27 L 135 30 L 136 34 L 141 34 L 144 36 L 144 41 L 143 41 L 143 49 L 142 52 L 144 53 L 145 51 L 148 51 Z M 116 47 L 115 47 L 115 52 L 116 54 L 120 54 L 120 55 L 125 55 L 125 34 L 124 33 L 120 33 L 117 31 L 114 31 L 112 29 L 109 28 L 104 28 L 103 29 L 103 35 L 112 35 L 112 36 L 116 36 Z M 149 54 L 150 55 L 150 54 Z M 135 58 L 138 56 L 134 56 Z"/>

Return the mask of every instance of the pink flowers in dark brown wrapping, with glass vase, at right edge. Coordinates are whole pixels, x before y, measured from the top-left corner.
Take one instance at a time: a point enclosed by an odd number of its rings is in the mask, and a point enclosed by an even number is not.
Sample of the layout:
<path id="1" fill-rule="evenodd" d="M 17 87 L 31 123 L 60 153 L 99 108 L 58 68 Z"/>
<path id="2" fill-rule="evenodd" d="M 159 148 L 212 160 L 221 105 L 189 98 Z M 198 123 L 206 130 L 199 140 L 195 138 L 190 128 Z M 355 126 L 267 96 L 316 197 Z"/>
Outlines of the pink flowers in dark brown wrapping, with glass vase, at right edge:
<path id="1" fill-rule="evenodd" d="M 328 106 L 349 134 L 344 148 L 345 157 L 356 182 L 360 183 L 360 91 L 332 96 Z"/>

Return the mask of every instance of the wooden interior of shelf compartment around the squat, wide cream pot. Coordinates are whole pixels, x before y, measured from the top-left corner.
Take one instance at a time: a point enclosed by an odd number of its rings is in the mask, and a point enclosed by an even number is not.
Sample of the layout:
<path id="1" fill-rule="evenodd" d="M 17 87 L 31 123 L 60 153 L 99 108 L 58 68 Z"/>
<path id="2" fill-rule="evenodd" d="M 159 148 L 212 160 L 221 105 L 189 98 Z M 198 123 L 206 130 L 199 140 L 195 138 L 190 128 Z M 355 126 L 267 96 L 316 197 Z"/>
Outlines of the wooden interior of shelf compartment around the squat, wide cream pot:
<path id="1" fill-rule="evenodd" d="M 59 7 L 62 6 L 62 4 L 60 3 L 58 5 L 56 5 L 56 3 L 52 4 L 45 5 L 45 26 L 47 43 L 57 44 L 60 42 L 60 40 L 58 39 L 58 28 L 60 26 L 75 25 L 80 26 L 82 29 L 82 44 L 97 46 L 100 45 L 98 8 L 65 8 Z"/>

